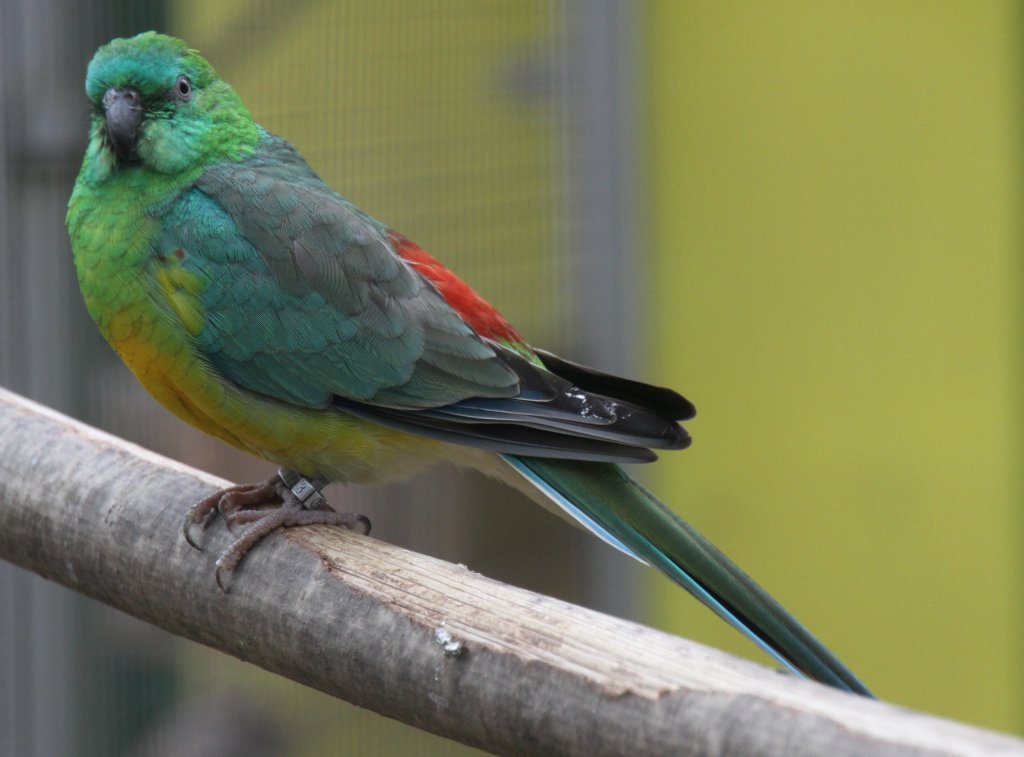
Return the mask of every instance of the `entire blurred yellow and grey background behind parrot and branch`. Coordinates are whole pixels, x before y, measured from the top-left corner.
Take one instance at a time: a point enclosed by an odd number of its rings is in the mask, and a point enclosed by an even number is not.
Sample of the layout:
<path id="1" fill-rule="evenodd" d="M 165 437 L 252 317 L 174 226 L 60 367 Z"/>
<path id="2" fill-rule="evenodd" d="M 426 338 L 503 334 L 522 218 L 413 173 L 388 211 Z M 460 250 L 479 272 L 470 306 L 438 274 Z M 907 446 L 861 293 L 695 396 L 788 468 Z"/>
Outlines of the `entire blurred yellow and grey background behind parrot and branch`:
<path id="1" fill-rule="evenodd" d="M 268 472 L 135 385 L 63 237 L 88 58 L 176 34 L 534 343 L 693 399 L 693 448 L 643 474 L 880 697 L 1022 733 L 1022 24 L 1012 2 L 7 0 L 0 383 Z M 766 662 L 482 479 L 332 496 L 378 538 Z M 472 752 L 2 565 L 0 695 L 4 754 Z"/>

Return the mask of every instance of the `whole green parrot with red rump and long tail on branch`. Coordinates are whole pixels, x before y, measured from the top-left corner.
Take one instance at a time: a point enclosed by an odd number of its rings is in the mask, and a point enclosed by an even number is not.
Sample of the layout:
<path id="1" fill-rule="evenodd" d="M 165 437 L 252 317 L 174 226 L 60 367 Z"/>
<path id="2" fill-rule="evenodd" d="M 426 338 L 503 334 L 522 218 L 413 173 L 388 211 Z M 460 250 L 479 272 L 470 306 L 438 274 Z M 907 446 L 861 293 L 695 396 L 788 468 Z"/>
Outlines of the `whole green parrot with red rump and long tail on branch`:
<path id="1" fill-rule="evenodd" d="M 410 240 L 334 192 L 180 40 L 116 39 L 68 208 L 82 294 L 154 396 L 283 466 L 189 510 L 247 523 L 217 580 L 281 525 L 337 523 L 330 481 L 475 468 L 653 565 L 787 668 L 867 689 L 620 463 L 681 450 L 670 389 L 536 349 Z M 275 507 L 266 507 L 275 505 Z"/>

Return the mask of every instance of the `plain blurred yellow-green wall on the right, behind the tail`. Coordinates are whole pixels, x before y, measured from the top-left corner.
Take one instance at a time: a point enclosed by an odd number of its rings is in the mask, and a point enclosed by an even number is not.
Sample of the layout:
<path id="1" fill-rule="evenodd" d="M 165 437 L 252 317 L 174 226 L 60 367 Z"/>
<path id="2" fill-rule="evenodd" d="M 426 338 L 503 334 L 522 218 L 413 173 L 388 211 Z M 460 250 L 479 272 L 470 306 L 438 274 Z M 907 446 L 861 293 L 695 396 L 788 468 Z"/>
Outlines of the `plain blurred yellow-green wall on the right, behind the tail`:
<path id="1" fill-rule="evenodd" d="M 658 491 L 880 697 L 1024 731 L 1020 11 L 648 11 Z"/>

